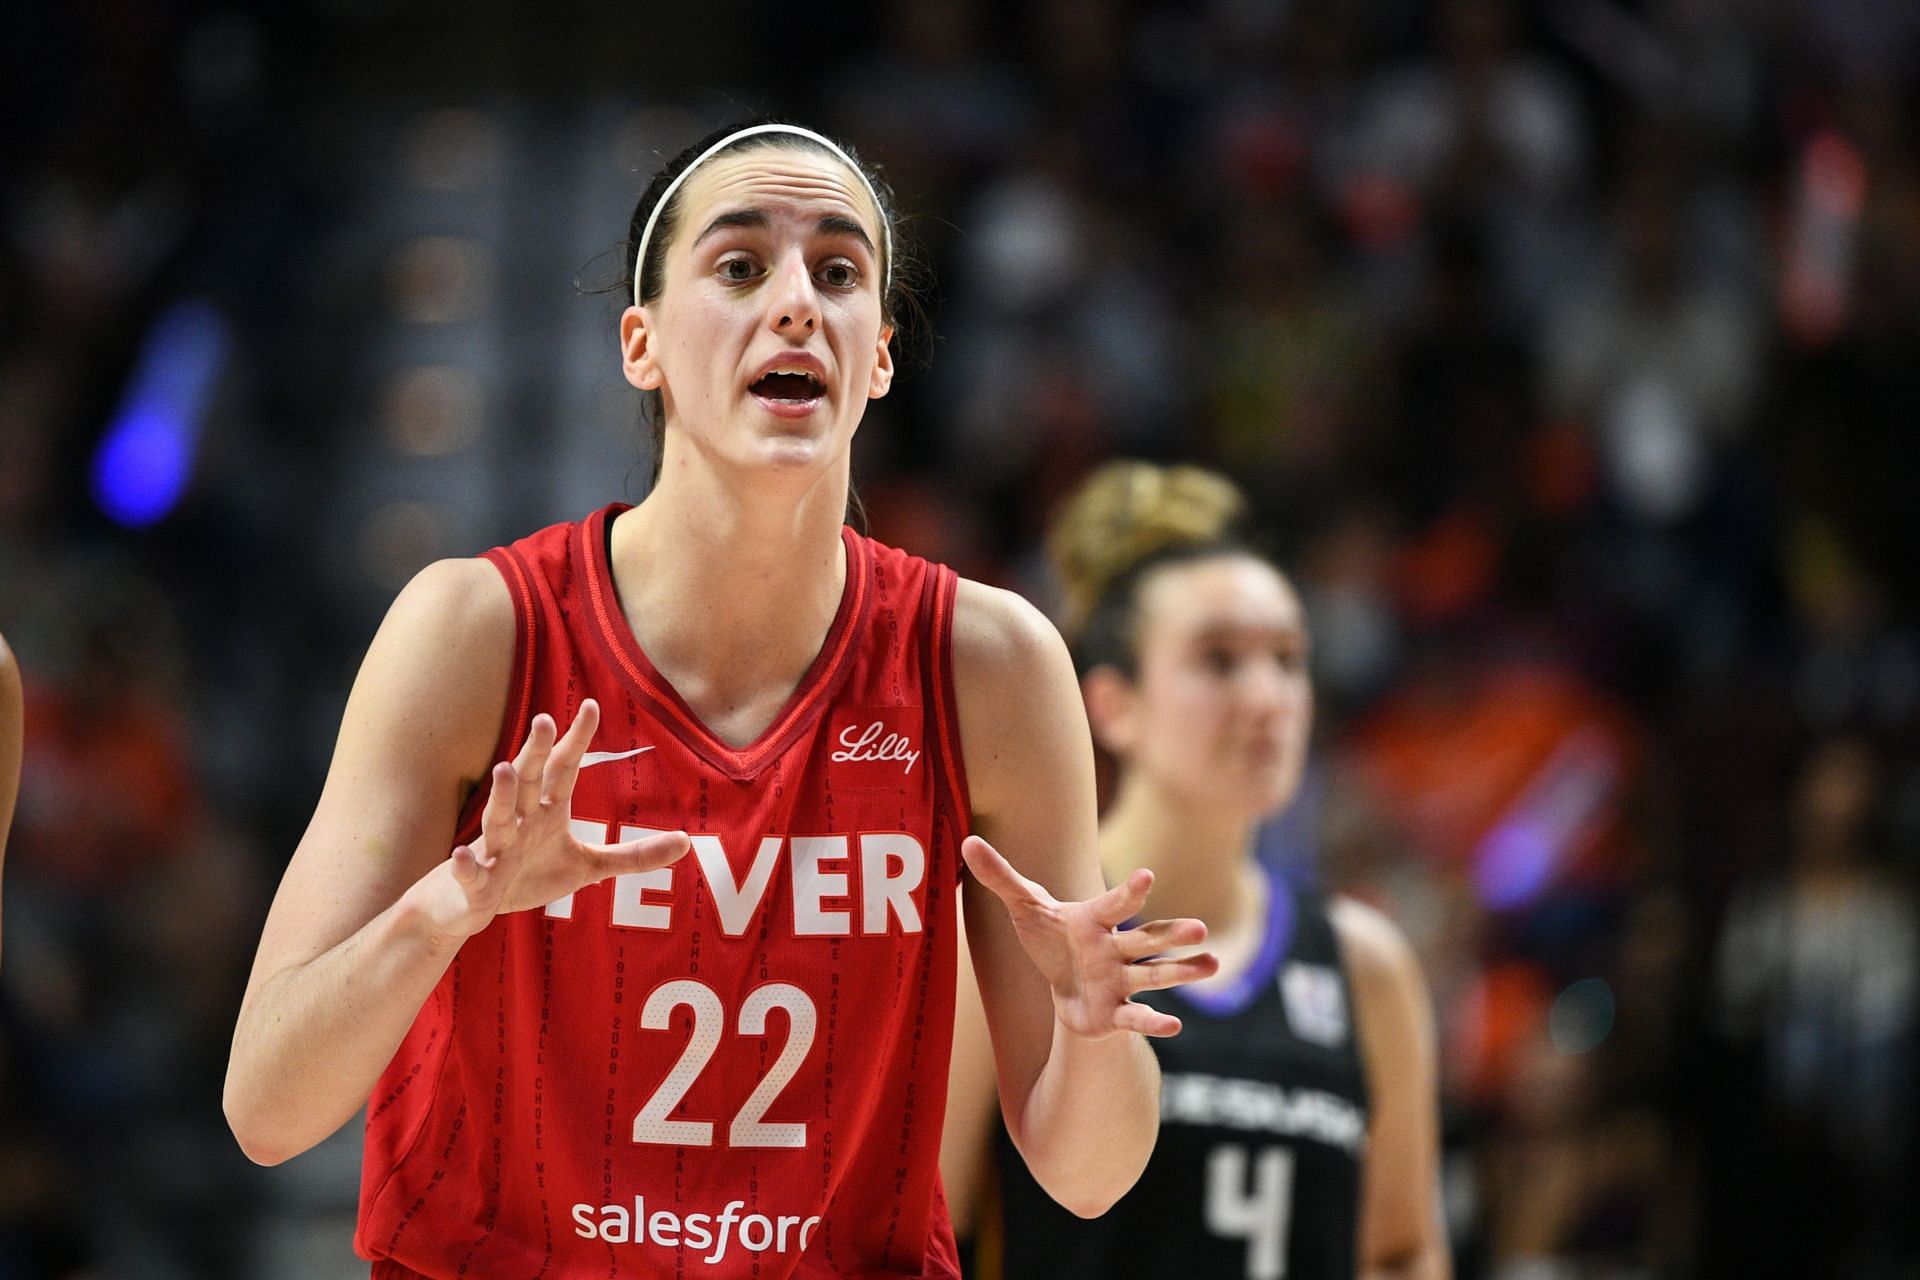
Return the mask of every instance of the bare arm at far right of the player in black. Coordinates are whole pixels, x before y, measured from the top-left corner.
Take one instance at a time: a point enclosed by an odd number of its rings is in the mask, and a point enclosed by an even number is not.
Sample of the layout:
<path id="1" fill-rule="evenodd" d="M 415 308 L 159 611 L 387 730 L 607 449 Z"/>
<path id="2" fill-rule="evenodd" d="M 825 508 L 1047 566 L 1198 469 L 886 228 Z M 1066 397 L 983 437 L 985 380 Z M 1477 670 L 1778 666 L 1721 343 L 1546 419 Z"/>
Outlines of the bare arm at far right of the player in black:
<path id="1" fill-rule="evenodd" d="M 1432 1006 L 1419 960 L 1379 912 L 1332 908 L 1354 984 L 1373 1119 L 1361 1199 L 1363 1267 L 1446 1274 L 1438 1211 L 1440 1113 Z"/>

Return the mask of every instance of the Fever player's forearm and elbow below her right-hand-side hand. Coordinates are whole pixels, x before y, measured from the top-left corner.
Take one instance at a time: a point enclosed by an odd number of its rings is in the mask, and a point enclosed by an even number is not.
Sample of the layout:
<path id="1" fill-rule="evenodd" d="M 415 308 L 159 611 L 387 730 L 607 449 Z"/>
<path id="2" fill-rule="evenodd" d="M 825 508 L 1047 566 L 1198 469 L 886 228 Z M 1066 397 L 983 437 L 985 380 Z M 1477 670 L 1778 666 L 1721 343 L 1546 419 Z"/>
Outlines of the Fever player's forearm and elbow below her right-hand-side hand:
<path id="1" fill-rule="evenodd" d="M 1152 1048 L 1133 1032 L 1087 1040 L 1054 1019 L 1046 1063 L 1010 1132 L 1048 1196 L 1079 1217 L 1106 1213 L 1139 1180 L 1160 1134 Z"/>

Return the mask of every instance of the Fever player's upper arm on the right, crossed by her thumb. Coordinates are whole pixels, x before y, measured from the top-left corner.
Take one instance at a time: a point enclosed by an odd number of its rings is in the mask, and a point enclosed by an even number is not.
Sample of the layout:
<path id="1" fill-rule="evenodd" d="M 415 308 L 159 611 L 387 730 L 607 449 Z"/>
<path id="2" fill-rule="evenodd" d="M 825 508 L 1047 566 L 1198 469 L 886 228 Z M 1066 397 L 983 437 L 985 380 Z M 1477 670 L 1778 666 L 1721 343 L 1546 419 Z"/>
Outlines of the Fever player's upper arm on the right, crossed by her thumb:
<path id="1" fill-rule="evenodd" d="M 1066 643 L 1027 601 L 966 580 L 952 643 L 973 831 L 1056 898 L 1092 898 L 1104 889 L 1092 737 Z M 1025 1088 L 1052 1042 L 1052 998 L 1006 908 L 972 879 L 964 898 L 1000 1103 L 1018 1136 Z"/>

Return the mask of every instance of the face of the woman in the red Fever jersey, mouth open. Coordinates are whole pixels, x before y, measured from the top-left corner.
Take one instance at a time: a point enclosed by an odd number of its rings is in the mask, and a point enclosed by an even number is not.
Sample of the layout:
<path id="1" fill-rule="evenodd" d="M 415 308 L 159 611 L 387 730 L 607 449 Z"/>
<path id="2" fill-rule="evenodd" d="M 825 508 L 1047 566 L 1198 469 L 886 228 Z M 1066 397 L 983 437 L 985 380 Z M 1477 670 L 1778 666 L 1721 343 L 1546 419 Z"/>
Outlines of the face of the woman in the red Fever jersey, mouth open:
<path id="1" fill-rule="evenodd" d="M 843 459 L 893 382 L 879 244 L 866 186 L 829 155 L 707 161 L 680 190 L 659 296 L 622 320 L 628 382 L 659 390 L 666 424 L 716 462 Z"/>

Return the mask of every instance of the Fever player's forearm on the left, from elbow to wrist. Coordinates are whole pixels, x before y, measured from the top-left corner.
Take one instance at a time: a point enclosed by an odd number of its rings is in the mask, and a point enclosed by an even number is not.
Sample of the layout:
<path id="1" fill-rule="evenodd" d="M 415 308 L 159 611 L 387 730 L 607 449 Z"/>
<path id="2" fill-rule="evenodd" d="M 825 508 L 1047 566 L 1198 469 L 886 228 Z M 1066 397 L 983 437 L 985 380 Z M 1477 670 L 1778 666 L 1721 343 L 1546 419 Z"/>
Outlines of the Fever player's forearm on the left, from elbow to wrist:
<path id="1" fill-rule="evenodd" d="M 459 950 L 401 898 L 315 960 L 282 969 L 240 1009 L 225 1109 L 261 1165 L 346 1125 Z"/>

